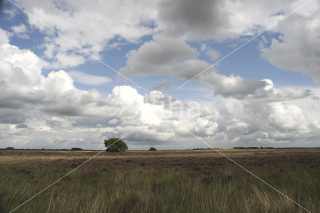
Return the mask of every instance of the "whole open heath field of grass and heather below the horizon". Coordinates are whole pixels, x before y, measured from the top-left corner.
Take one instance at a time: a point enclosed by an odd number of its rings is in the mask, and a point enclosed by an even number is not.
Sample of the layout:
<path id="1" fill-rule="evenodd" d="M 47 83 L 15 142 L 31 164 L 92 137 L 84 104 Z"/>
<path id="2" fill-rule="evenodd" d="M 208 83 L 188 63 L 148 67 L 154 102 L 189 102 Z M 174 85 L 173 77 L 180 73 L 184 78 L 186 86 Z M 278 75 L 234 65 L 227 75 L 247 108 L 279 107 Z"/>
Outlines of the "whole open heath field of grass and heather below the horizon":
<path id="1" fill-rule="evenodd" d="M 320 148 L 219 149 L 320 212 Z M 9 212 L 96 151 L 0 151 Z M 214 150 L 103 151 L 15 212 L 306 212 Z"/>

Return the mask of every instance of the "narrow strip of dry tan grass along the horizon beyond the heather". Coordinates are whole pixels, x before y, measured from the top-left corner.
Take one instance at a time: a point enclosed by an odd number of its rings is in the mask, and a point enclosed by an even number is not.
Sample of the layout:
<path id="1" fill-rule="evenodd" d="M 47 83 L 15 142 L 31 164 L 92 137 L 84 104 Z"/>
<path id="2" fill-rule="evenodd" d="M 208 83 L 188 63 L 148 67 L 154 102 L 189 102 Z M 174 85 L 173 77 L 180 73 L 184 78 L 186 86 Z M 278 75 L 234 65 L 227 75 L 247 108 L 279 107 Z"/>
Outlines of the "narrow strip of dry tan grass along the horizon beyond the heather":
<path id="1" fill-rule="evenodd" d="M 313 153 L 320 152 L 320 148 L 288 148 L 288 149 L 218 149 L 228 157 L 241 156 L 275 156 L 281 154 Z M 82 159 L 90 158 L 99 151 L 55 151 L 55 150 L 14 150 L 0 151 L 2 161 L 23 160 L 56 160 L 56 159 Z M 213 149 L 203 150 L 158 150 L 158 151 L 125 151 L 120 153 L 108 153 L 102 151 L 95 158 L 135 158 L 135 157 L 220 157 L 220 153 Z"/>

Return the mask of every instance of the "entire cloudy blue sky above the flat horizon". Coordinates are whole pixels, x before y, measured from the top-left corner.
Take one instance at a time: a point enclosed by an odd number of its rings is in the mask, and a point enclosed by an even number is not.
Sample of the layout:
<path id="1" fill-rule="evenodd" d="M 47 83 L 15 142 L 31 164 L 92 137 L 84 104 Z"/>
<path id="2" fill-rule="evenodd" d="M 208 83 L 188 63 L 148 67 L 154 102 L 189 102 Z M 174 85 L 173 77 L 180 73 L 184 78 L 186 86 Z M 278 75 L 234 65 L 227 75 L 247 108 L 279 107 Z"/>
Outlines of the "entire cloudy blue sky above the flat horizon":
<path id="1" fill-rule="evenodd" d="M 0 2 L 0 148 L 320 146 L 318 0 Z"/>

